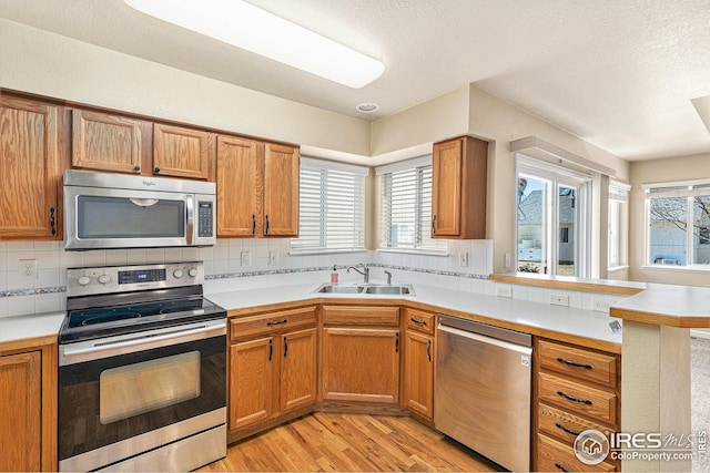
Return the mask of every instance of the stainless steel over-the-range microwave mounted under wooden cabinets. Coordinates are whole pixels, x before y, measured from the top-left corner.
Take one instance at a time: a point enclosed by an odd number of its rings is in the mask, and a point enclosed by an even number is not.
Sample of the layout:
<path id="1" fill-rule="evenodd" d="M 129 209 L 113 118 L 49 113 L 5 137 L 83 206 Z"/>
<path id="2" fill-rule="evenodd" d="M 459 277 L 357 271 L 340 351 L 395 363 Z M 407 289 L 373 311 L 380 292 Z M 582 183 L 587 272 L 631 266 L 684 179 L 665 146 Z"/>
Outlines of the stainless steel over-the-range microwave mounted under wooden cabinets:
<path id="1" fill-rule="evenodd" d="M 64 248 L 210 246 L 214 183 L 64 171 Z"/>

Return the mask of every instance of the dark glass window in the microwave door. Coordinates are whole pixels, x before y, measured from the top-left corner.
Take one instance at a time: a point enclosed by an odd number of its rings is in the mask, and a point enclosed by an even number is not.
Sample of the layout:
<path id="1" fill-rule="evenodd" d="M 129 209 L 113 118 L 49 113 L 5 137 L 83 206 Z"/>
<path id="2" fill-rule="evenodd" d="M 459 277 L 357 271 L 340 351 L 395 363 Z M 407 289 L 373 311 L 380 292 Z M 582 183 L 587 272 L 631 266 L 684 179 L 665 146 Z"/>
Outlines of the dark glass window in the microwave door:
<path id="1" fill-rule="evenodd" d="M 79 238 L 183 238 L 183 200 L 80 195 Z"/>

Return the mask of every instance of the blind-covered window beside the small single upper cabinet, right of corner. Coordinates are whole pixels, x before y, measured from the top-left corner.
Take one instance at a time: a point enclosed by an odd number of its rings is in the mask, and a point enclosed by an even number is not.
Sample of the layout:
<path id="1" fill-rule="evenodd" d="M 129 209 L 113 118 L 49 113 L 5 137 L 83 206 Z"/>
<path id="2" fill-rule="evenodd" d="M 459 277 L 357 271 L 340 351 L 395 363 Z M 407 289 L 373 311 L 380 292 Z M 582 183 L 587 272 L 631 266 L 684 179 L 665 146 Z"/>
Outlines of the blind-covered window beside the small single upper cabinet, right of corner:
<path id="1" fill-rule="evenodd" d="M 446 254 L 432 239 L 432 156 L 379 166 L 381 248 Z"/>

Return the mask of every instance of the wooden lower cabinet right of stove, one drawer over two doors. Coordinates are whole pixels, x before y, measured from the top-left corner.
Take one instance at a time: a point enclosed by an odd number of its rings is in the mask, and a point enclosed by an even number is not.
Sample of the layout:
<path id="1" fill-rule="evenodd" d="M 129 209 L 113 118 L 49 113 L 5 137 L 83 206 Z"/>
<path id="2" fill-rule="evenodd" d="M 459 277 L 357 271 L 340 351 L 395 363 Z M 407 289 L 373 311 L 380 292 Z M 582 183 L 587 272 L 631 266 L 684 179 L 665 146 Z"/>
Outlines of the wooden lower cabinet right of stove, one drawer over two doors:
<path id="1" fill-rule="evenodd" d="M 316 401 L 315 307 L 231 319 L 230 340 L 231 436 Z"/>

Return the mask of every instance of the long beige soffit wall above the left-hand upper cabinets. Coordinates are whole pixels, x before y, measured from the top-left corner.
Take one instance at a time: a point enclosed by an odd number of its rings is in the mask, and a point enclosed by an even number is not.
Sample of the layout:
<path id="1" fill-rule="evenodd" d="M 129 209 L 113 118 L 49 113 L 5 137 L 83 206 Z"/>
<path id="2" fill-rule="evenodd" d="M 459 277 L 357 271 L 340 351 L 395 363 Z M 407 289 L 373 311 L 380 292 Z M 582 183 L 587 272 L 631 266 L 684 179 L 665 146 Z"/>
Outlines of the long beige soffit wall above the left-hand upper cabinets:
<path id="1" fill-rule="evenodd" d="M 369 156 L 369 122 L 0 19 L 0 88 Z"/>

